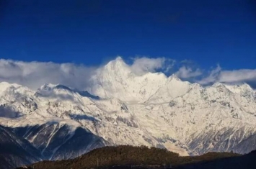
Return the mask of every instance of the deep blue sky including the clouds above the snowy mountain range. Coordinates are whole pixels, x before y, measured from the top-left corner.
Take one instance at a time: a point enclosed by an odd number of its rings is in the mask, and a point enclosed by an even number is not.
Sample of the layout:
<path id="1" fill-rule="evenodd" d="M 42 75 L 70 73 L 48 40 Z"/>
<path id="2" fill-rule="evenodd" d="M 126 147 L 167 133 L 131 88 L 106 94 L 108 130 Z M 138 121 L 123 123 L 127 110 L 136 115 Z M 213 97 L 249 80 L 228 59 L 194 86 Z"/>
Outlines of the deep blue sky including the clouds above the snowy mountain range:
<path id="1" fill-rule="evenodd" d="M 89 78 L 117 56 L 138 74 L 256 88 L 256 2 L 0 1 L 0 81 Z"/>

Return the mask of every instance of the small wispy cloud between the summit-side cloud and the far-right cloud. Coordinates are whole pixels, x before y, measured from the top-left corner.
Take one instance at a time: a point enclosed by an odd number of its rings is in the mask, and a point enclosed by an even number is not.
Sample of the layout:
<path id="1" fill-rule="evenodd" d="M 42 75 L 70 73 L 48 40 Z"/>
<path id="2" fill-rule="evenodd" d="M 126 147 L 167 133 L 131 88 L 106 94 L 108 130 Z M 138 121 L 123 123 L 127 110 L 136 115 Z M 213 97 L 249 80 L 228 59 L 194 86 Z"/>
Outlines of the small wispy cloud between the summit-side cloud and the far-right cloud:
<path id="1" fill-rule="evenodd" d="M 175 74 L 180 78 L 193 78 L 202 75 L 202 71 L 199 68 L 193 70 L 183 65 Z"/>

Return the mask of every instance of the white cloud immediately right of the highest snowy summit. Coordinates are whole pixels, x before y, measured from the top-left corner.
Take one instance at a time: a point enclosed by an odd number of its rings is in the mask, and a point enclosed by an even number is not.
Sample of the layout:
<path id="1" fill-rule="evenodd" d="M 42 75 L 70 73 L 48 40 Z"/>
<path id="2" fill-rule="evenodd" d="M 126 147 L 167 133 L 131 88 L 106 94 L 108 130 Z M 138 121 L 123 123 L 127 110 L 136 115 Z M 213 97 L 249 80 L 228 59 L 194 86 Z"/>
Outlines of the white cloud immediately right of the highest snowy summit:
<path id="1" fill-rule="evenodd" d="M 154 73 L 156 70 L 163 70 L 166 73 L 172 68 L 174 62 L 174 60 L 167 58 L 134 58 L 131 70 L 138 75 L 144 75 L 148 72 Z"/>

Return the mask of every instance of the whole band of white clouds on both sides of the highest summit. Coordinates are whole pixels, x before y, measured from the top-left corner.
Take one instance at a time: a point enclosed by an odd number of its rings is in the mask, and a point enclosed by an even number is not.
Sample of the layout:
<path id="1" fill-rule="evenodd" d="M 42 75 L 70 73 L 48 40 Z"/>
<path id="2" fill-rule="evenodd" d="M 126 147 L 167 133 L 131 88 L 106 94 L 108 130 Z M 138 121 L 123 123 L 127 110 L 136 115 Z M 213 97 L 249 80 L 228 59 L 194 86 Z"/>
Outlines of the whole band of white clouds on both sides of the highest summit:
<path id="1" fill-rule="evenodd" d="M 220 65 L 211 70 L 201 70 L 184 65 L 176 68 L 177 61 L 167 58 L 133 58 L 129 65 L 138 75 L 148 72 L 162 71 L 166 74 L 175 73 L 186 81 L 208 86 L 221 83 L 249 83 L 256 88 L 256 69 L 223 70 Z M 181 63 L 181 62 L 180 62 Z M 99 67 L 89 67 L 74 63 L 24 62 L 0 59 L 0 82 L 19 83 L 37 89 L 44 83 L 60 83 L 72 88 L 85 90 L 91 84 L 91 77 Z"/>

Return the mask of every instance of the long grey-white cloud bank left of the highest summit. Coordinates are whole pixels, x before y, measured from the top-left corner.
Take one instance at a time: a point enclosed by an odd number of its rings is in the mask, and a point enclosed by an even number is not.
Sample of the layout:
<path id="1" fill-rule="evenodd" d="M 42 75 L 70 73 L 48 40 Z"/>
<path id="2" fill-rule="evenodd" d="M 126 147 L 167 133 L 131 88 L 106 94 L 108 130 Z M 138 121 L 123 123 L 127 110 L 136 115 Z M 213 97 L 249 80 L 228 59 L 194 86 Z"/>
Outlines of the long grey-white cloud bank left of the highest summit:
<path id="1" fill-rule="evenodd" d="M 0 60 L 0 81 L 19 83 L 36 89 L 44 83 L 61 83 L 84 89 L 96 68 L 73 63 L 43 63 Z"/>

